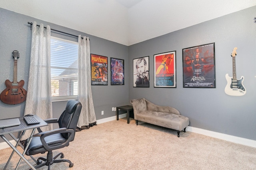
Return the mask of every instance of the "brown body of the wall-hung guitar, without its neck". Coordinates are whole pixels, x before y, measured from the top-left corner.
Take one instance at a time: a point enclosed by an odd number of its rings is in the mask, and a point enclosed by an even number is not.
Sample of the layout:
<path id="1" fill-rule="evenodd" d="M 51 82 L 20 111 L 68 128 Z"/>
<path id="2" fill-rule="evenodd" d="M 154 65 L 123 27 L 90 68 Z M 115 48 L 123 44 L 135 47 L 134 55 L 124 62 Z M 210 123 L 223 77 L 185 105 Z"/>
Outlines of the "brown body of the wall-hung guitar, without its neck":
<path id="1" fill-rule="evenodd" d="M 5 104 L 20 104 L 26 100 L 27 91 L 23 88 L 24 80 L 16 84 L 5 80 L 6 89 L 0 94 L 0 100 Z"/>

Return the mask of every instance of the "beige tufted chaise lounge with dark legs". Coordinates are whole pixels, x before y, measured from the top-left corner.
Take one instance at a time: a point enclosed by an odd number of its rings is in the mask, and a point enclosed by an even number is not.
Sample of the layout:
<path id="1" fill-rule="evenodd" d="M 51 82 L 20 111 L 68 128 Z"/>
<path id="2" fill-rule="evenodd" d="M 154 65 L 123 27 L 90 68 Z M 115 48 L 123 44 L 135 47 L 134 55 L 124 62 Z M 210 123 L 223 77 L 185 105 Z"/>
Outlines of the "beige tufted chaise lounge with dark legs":
<path id="1" fill-rule="evenodd" d="M 136 125 L 138 125 L 138 121 L 143 121 L 153 125 L 167 127 L 176 130 L 178 137 L 180 137 L 180 131 L 183 129 L 186 132 L 189 119 L 180 115 L 177 109 L 169 106 L 158 106 L 145 98 L 133 99 L 130 102 L 133 106 Z"/>

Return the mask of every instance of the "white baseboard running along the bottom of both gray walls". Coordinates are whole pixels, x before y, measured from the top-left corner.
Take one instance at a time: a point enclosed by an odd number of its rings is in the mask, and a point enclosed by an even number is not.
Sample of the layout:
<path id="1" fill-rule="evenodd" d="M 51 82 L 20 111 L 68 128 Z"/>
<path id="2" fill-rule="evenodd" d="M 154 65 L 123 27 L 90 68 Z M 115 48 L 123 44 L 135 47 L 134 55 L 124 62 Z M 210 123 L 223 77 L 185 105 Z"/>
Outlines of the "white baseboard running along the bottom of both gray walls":
<path id="1" fill-rule="evenodd" d="M 126 117 L 126 114 L 127 113 L 119 115 L 119 118 L 122 119 L 122 118 Z M 113 121 L 113 120 L 116 120 L 116 116 L 107 117 L 107 118 L 104 118 L 104 119 L 99 119 L 99 120 L 97 120 L 97 124 L 106 123 L 108 121 Z M 224 141 L 230 141 L 230 142 L 238 143 L 238 144 L 241 144 L 241 145 L 246 145 L 246 146 L 249 146 L 249 147 L 256 148 L 256 141 L 251 140 L 251 139 L 245 139 L 245 138 L 236 137 L 236 136 L 232 136 L 232 135 L 226 135 L 224 133 L 217 133 L 217 132 L 214 132 L 214 131 L 208 131 L 208 130 L 199 129 L 199 128 L 191 127 L 191 126 L 188 126 L 186 128 L 186 131 L 193 132 L 193 133 L 198 133 L 198 134 L 201 134 L 201 135 L 206 135 L 206 136 L 214 137 L 214 138 L 217 138 L 217 139 L 222 139 Z M 14 140 L 12 140 L 10 142 L 12 143 L 12 145 L 16 144 L 16 142 Z M 9 145 L 6 142 L 0 143 L 0 150 L 8 148 L 8 147 L 9 147 Z"/>

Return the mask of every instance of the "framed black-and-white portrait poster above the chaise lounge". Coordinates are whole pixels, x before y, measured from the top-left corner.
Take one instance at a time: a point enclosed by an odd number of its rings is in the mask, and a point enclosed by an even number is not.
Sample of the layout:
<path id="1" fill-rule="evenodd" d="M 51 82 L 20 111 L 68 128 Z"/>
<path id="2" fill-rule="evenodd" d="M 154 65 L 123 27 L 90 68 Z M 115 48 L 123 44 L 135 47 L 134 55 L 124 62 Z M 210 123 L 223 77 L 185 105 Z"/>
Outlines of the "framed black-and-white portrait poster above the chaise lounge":
<path id="1" fill-rule="evenodd" d="M 149 56 L 133 59 L 133 87 L 149 87 Z"/>

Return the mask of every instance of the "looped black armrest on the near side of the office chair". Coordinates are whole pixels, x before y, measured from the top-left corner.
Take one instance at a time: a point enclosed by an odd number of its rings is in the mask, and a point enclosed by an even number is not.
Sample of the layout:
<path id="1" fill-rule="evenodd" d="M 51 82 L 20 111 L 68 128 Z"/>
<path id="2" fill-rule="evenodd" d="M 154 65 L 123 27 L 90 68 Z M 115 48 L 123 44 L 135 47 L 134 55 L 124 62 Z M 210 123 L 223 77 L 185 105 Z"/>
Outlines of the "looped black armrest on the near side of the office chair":
<path id="1" fill-rule="evenodd" d="M 68 139 L 60 145 L 54 145 L 54 146 L 48 145 L 44 138 L 48 137 L 50 135 L 58 134 L 58 133 L 68 133 L 69 134 Z M 74 133 L 73 129 L 66 129 L 64 127 L 64 128 L 60 128 L 60 129 L 54 129 L 54 130 L 51 130 L 51 131 L 40 132 L 40 133 L 34 134 L 33 137 L 40 137 L 42 145 L 44 146 L 44 148 L 46 150 L 55 150 L 55 149 L 59 149 L 59 148 L 63 148 L 63 147 L 68 146 L 69 142 L 74 139 L 74 134 L 75 133 Z"/>

